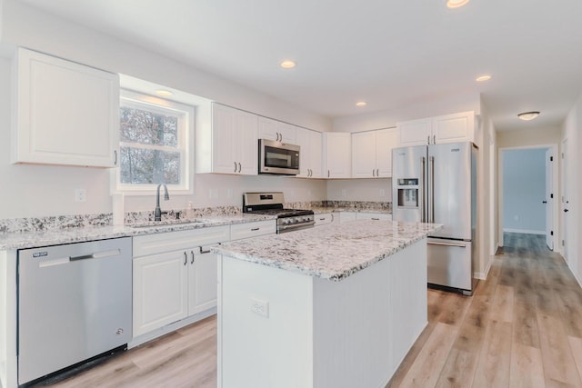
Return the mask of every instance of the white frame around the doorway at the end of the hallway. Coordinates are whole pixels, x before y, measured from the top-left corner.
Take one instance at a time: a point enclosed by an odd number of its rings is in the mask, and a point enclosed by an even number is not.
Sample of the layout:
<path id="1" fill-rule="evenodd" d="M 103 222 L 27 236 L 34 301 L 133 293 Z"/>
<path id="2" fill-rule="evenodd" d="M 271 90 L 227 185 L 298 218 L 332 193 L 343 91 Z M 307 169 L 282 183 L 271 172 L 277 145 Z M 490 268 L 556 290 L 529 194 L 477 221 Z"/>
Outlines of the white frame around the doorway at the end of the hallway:
<path id="1" fill-rule="evenodd" d="M 512 150 L 525 150 L 525 149 L 539 149 L 539 148 L 549 148 L 552 150 L 554 155 L 554 161 L 557 161 L 558 147 L 556 144 L 537 144 L 537 145 L 527 145 L 527 146 L 515 146 L 515 147 L 499 147 L 497 149 L 497 234 L 499 238 L 499 246 L 504 246 L 503 241 L 503 152 Z M 558 174 L 559 166 L 558 163 L 552 164 L 552 187 L 554 190 L 554 199 L 557 195 L 558 186 Z M 559 241 L 558 236 L 558 223 L 559 223 L 559 201 L 552 202 L 552 214 L 553 214 L 553 224 L 554 224 L 554 242 Z M 556 244 L 554 244 L 556 245 Z"/>

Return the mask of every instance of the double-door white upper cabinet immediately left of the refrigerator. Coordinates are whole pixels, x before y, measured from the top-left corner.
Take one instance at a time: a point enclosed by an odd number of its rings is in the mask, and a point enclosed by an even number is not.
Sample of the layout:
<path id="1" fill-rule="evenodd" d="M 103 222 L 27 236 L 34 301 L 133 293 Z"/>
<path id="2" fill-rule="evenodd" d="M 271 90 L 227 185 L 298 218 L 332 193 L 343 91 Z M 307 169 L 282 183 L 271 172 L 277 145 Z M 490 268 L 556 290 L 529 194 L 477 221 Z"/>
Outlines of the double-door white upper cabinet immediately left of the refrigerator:
<path id="1" fill-rule="evenodd" d="M 398 144 L 396 129 L 352 134 L 352 177 L 392 176 L 392 149 Z"/>

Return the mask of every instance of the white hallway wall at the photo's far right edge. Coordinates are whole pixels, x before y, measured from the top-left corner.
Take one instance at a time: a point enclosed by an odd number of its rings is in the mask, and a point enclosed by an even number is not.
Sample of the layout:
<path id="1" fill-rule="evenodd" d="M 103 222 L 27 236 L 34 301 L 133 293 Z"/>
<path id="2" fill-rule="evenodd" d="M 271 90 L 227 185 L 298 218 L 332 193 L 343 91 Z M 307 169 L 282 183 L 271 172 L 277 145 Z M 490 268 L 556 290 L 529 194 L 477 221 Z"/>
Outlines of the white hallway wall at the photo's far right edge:
<path id="1" fill-rule="evenodd" d="M 582 256 L 579 254 L 579 241 L 582 241 L 582 179 L 580 179 L 580 158 L 579 150 L 582 149 L 582 95 L 577 99 L 576 104 L 572 107 L 567 119 L 562 126 L 562 139 L 567 140 L 567 169 L 560 176 L 567 182 L 567 193 L 561 193 L 559 198 L 564 198 L 568 204 L 561 203 L 560 206 L 560 224 L 566 222 L 567 231 L 563 239 L 566 240 L 567 253 L 561 244 L 558 244 L 562 253 L 566 257 L 567 264 L 577 277 L 578 283 L 582 284 Z M 560 143 L 560 146 L 562 144 Z M 562 148 L 560 148 L 561 154 Z M 563 161 L 560 157 L 560 164 Z M 567 214 L 563 210 L 567 208 Z M 559 240 L 557 240 L 559 242 Z"/>

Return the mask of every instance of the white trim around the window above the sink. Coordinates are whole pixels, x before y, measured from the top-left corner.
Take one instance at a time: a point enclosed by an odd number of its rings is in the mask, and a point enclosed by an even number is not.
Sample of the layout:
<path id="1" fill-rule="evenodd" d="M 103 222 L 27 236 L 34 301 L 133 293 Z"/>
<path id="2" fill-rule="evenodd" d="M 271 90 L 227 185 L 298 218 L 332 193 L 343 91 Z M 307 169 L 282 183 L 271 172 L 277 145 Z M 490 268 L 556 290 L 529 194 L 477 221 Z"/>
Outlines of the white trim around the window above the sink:
<path id="1" fill-rule="evenodd" d="M 167 114 L 167 111 L 175 111 L 180 114 L 178 124 L 186 124 L 186 131 L 180 131 L 178 142 L 184 144 L 184 148 L 180 149 L 180 161 L 183 184 L 167 184 L 167 189 L 173 194 L 194 194 L 194 159 L 195 159 L 195 107 L 186 104 L 176 103 L 162 99 L 153 95 L 146 95 L 137 93 L 127 89 L 121 89 L 119 93 L 121 104 L 134 105 L 135 107 L 142 107 L 144 104 L 150 106 L 154 112 Z M 160 108 L 163 106 L 163 108 Z M 185 121 L 185 123 L 183 123 Z M 124 143 L 120 142 L 120 145 Z M 167 149 L 165 146 L 144 145 L 144 148 Z M 175 148 L 171 149 L 176 151 Z M 152 195 L 156 194 L 157 184 L 120 184 L 119 174 L 121 167 L 115 168 L 115 174 L 111 174 L 112 194 L 125 195 Z"/>

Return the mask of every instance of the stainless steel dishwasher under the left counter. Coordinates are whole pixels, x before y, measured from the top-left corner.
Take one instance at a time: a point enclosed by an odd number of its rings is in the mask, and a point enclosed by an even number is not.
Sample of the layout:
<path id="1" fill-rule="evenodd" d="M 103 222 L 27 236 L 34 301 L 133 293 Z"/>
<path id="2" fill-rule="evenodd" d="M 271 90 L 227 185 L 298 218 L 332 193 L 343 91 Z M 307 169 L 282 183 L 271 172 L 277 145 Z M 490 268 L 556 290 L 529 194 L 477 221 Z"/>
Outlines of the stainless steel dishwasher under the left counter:
<path id="1" fill-rule="evenodd" d="M 130 237 L 18 251 L 18 383 L 132 337 Z"/>

